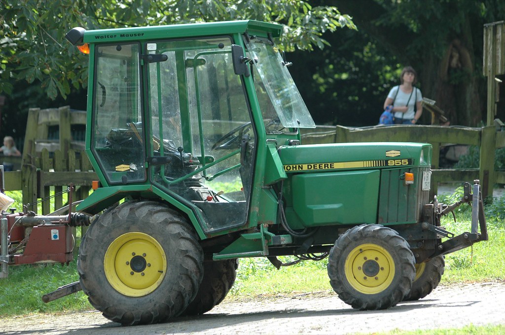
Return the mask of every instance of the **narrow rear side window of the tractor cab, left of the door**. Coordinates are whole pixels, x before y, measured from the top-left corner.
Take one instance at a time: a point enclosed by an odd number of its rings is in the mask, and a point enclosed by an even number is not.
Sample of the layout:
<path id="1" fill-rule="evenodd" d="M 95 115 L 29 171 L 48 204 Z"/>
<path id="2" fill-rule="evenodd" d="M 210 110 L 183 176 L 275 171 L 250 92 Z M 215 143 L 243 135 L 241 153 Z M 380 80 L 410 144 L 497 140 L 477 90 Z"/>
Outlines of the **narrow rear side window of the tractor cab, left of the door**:
<path id="1" fill-rule="evenodd" d="M 95 49 L 91 149 L 110 183 L 146 178 L 139 48 L 135 43 L 98 45 Z"/>

